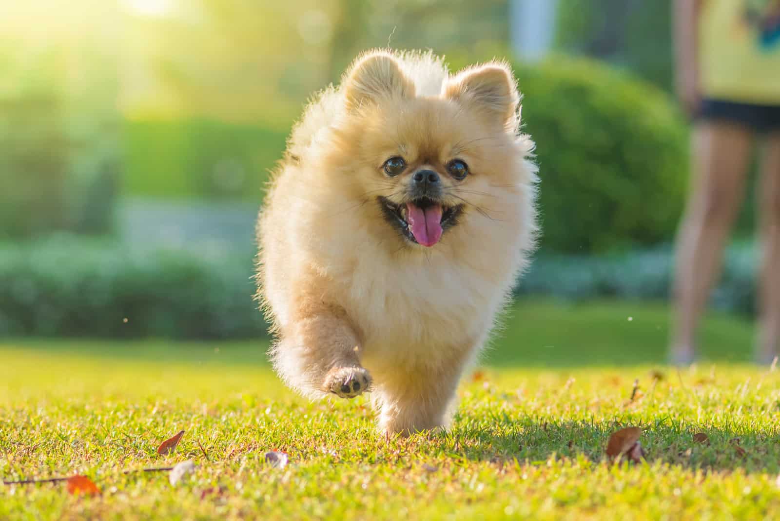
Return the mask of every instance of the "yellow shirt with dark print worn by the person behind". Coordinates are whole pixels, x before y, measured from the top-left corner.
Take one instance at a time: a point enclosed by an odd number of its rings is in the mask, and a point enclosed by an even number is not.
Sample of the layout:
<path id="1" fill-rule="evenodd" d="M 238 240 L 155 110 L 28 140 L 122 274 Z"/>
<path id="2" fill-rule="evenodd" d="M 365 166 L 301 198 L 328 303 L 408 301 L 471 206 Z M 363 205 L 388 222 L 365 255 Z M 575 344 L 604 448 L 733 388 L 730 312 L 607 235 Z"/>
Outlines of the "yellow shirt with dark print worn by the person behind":
<path id="1" fill-rule="evenodd" d="M 702 9 L 704 96 L 780 105 L 780 0 L 703 0 Z"/>

